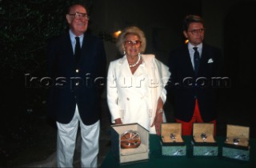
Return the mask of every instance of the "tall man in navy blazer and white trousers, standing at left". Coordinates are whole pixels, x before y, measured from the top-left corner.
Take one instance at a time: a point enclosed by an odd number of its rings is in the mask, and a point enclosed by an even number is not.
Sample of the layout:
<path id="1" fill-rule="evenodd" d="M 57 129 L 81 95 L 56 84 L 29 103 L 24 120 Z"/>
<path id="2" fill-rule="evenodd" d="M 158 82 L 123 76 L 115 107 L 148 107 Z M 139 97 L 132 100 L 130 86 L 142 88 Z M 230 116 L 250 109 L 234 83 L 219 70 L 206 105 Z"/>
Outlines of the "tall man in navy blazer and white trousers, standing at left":
<path id="1" fill-rule="evenodd" d="M 79 125 L 81 166 L 96 167 L 105 49 L 102 40 L 86 32 L 89 16 L 85 6 L 70 6 L 66 21 L 70 30 L 50 39 L 47 49 L 53 81 L 49 111 L 58 127 L 57 163 L 58 167 L 73 167 Z"/>

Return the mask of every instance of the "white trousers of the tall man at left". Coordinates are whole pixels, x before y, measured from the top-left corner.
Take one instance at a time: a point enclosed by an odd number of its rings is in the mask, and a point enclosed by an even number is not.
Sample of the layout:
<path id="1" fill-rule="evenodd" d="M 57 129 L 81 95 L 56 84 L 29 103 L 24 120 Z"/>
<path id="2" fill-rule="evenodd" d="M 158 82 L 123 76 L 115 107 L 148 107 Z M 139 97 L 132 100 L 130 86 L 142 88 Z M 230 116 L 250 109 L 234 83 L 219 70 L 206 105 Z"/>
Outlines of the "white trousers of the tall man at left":
<path id="1" fill-rule="evenodd" d="M 79 122 L 78 122 L 79 121 Z M 74 148 L 78 131 L 78 123 L 81 129 L 81 166 L 97 167 L 98 163 L 98 138 L 100 123 L 86 126 L 76 107 L 74 117 L 70 123 L 58 123 L 57 135 L 57 165 L 58 167 L 73 167 Z"/>

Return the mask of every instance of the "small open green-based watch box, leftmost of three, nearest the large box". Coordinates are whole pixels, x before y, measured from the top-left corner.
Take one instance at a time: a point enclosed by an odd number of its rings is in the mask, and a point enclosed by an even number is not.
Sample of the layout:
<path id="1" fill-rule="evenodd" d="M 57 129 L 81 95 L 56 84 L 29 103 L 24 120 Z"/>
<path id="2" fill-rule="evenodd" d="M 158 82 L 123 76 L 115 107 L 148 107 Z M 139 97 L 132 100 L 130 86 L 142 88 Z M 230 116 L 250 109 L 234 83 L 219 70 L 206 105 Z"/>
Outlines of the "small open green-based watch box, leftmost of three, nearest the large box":
<path id="1" fill-rule="evenodd" d="M 186 144 L 182 139 L 181 123 L 162 123 L 161 141 L 162 155 L 184 156 L 186 155 Z"/>

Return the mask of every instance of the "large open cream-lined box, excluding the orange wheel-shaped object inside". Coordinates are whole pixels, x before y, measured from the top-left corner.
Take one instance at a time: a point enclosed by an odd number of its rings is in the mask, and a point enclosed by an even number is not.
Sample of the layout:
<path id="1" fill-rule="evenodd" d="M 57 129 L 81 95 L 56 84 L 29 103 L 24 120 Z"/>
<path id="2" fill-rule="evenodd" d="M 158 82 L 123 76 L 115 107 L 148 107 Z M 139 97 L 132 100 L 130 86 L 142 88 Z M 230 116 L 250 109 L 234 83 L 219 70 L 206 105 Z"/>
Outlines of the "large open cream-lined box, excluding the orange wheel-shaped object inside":
<path id="1" fill-rule="evenodd" d="M 136 148 L 123 149 L 121 137 L 127 131 L 136 131 L 141 144 Z M 119 163 L 137 162 L 149 159 L 149 131 L 138 123 L 118 124 L 111 126 L 111 151 Z"/>

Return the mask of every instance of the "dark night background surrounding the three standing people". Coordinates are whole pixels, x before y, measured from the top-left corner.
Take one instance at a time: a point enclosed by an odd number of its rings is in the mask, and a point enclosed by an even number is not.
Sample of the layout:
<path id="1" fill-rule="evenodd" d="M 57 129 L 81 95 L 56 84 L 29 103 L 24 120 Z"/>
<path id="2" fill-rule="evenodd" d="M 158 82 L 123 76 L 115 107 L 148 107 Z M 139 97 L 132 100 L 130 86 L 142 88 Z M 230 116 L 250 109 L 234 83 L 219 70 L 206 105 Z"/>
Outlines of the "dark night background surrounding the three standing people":
<path id="1" fill-rule="evenodd" d="M 56 141 L 48 130 L 54 127 L 46 117 L 48 90 L 30 80 L 47 75 L 46 41 L 67 29 L 66 7 L 73 2 L 88 7 L 88 31 L 104 40 L 108 62 L 118 57 L 112 33 L 138 25 L 146 33 L 146 53 L 166 63 L 170 50 L 185 40 L 182 19 L 186 14 L 201 15 L 206 22 L 205 40 L 222 49 L 223 76 L 231 81 L 230 87 L 221 88 L 217 104 L 218 135 L 226 135 L 226 124 L 235 124 L 250 127 L 250 137 L 256 137 L 256 1 L 0 0 L 0 166 L 17 166 L 22 161 L 14 160 L 25 150 Z M 171 122 L 171 100 L 166 104 Z M 49 154 L 54 151 L 54 145 L 50 147 Z"/>

